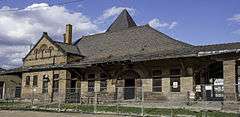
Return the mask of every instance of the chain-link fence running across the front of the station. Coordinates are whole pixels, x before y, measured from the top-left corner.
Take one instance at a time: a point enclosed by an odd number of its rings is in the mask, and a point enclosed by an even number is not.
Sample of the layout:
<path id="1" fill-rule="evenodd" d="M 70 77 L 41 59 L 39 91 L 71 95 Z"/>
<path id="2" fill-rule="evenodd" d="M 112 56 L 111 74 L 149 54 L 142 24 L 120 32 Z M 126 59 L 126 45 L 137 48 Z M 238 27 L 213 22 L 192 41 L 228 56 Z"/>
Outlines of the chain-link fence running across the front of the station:
<path id="1" fill-rule="evenodd" d="M 210 86 L 196 85 L 194 91 L 187 92 L 173 90 L 179 86 L 170 86 L 169 92 L 161 86 L 111 87 L 111 90 L 109 87 L 53 90 L 35 87 L 28 94 L 22 93 L 21 98 L 16 97 L 16 89 L 4 89 L 0 108 L 136 116 L 240 116 L 239 101 L 223 101 L 224 95 L 236 94 L 224 94 L 221 86 Z"/>

